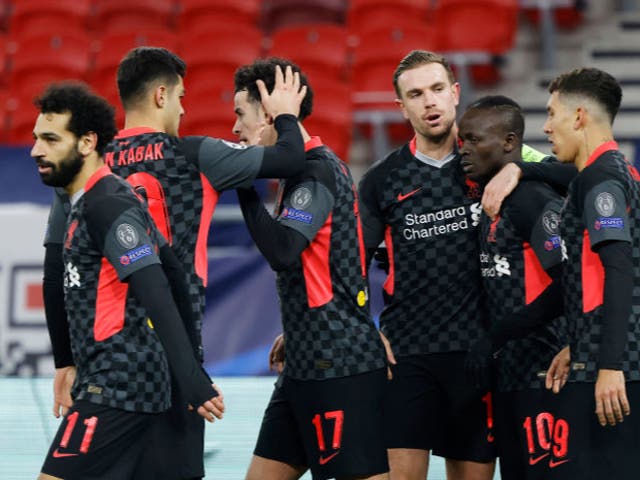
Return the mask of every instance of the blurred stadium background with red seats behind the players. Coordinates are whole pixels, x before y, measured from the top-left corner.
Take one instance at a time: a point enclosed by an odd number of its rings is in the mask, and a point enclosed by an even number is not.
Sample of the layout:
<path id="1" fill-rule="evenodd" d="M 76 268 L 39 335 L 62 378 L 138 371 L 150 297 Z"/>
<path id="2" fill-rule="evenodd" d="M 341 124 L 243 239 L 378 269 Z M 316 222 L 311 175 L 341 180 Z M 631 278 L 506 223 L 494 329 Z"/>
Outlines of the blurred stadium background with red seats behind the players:
<path id="1" fill-rule="evenodd" d="M 391 84 L 411 49 L 449 58 L 462 84 L 462 106 L 490 93 L 520 102 L 527 142 L 544 152 L 549 80 L 596 66 L 623 85 L 614 131 L 638 163 L 638 8 L 638 0 L 0 0 L 0 477 L 34 478 L 56 428 L 40 291 L 51 192 L 29 157 L 37 113 L 32 100 L 47 83 L 86 81 L 117 106 L 122 126 L 115 83 L 120 58 L 137 45 L 164 46 L 188 63 L 181 134 L 234 140 L 235 69 L 259 56 L 291 58 L 316 92 L 305 125 L 359 178 L 411 136 Z M 263 188 L 268 193 L 272 185 Z M 243 413 L 233 420 L 230 412 L 209 429 L 215 433 L 208 478 L 240 478 L 271 390 L 272 378 L 255 376 L 269 374 L 278 305 L 273 274 L 253 248 L 234 193 L 221 198 L 209 248 L 206 367 L 215 378 L 247 377 L 220 380 L 228 385 L 230 406 L 237 398 L 236 411 Z M 372 274 L 376 313 L 381 273 Z M 33 426 L 24 430 L 25 421 Z M 246 438 L 236 441 L 233 432 Z M 237 458 L 224 460 L 226 454 Z M 444 478 L 441 464 L 434 467 L 430 478 Z"/>

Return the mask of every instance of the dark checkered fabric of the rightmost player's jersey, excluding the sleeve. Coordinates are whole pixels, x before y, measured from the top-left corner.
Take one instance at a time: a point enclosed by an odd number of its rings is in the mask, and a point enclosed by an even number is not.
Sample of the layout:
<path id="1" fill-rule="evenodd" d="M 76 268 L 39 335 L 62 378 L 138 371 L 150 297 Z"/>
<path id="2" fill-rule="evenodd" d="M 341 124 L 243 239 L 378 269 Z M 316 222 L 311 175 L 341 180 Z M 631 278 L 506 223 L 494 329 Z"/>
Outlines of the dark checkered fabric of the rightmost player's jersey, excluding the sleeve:
<path id="1" fill-rule="evenodd" d="M 596 361 L 601 342 L 602 305 L 584 312 L 584 254 L 586 227 L 584 211 L 594 208 L 586 205 L 585 196 L 597 183 L 614 179 L 624 186 L 629 208 L 629 230 L 633 239 L 634 265 L 633 309 L 629 317 L 627 346 L 623 357 L 623 371 L 629 381 L 640 380 L 640 186 L 630 173 L 630 165 L 617 150 L 603 153 L 582 170 L 569 187 L 562 211 L 561 236 L 566 247 L 564 269 L 565 310 L 571 341 L 572 372 L 569 381 L 594 382 L 597 377 Z M 588 237 L 587 237 L 588 239 Z"/>

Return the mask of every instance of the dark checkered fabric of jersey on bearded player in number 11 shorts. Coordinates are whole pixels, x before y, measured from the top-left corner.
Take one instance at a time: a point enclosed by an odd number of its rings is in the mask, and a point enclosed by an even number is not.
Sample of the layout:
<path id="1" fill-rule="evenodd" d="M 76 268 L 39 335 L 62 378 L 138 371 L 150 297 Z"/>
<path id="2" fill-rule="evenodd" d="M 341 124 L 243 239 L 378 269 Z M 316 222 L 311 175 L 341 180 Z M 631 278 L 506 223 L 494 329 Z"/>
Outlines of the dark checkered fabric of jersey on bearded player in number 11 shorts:
<path id="1" fill-rule="evenodd" d="M 98 287 L 109 273 L 108 262 L 95 240 L 95 228 L 88 224 L 86 215 L 92 204 L 104 205 L 105 197 L 120 198 L 119 205 L 140 205 L 130 186 L 108 175 L 71 209 L 68 225 L 77 222 L 77 227 L 69 229 L 63 255 L 67 266 L 65 304 L 79 380 L 74 385 L 74 398 L 128 411 L 161 412 L 171 404 L 171 382 L 162 345 L 147 324 L 145 310 L 128 295 L 124 311 L 107 307 L 108 321 L 122 321 L 122 329 L 101 341 L 94 335 Z M 115 220 L 119 214 L 113 211 L 105 216 Z M 146 220 L 153 241 L 153 223 L 148 215 Z M 69 265 L 73 266 L 73 275 L 77 273 L 75 285 L 69 279 Z M 118 282 L 117 277 L 113 281 Z"/>

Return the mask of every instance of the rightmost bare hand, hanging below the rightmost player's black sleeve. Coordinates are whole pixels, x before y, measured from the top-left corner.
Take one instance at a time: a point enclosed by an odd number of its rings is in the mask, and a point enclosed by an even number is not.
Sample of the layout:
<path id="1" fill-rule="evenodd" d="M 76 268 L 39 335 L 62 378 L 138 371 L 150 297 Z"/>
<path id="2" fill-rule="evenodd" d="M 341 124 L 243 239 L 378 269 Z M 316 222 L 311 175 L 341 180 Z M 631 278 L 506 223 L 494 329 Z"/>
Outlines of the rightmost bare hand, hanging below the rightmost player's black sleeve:
<path id="1" fill-rule="evenodd" d="M 603 427 L 621 423 L 631 413 L 624 373 L 621 370 L 598 370 L 595 393 L 596 415 Z"/>

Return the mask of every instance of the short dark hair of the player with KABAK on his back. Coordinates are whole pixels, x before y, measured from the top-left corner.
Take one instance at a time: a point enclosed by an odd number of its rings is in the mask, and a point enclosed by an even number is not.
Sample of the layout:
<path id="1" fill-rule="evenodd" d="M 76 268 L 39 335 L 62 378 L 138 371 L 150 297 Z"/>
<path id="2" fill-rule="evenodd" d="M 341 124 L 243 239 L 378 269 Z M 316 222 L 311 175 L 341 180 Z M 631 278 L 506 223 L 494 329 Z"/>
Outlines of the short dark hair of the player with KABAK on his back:
<path id="1" fill-rule="evenodd" d="M 161 81 L 173 87 L 186 72 L 184 60 L 166 48 L 136 47 L 118 65 L 120 101 L 127 109 L 140 100 L 152 82 Z"/>

